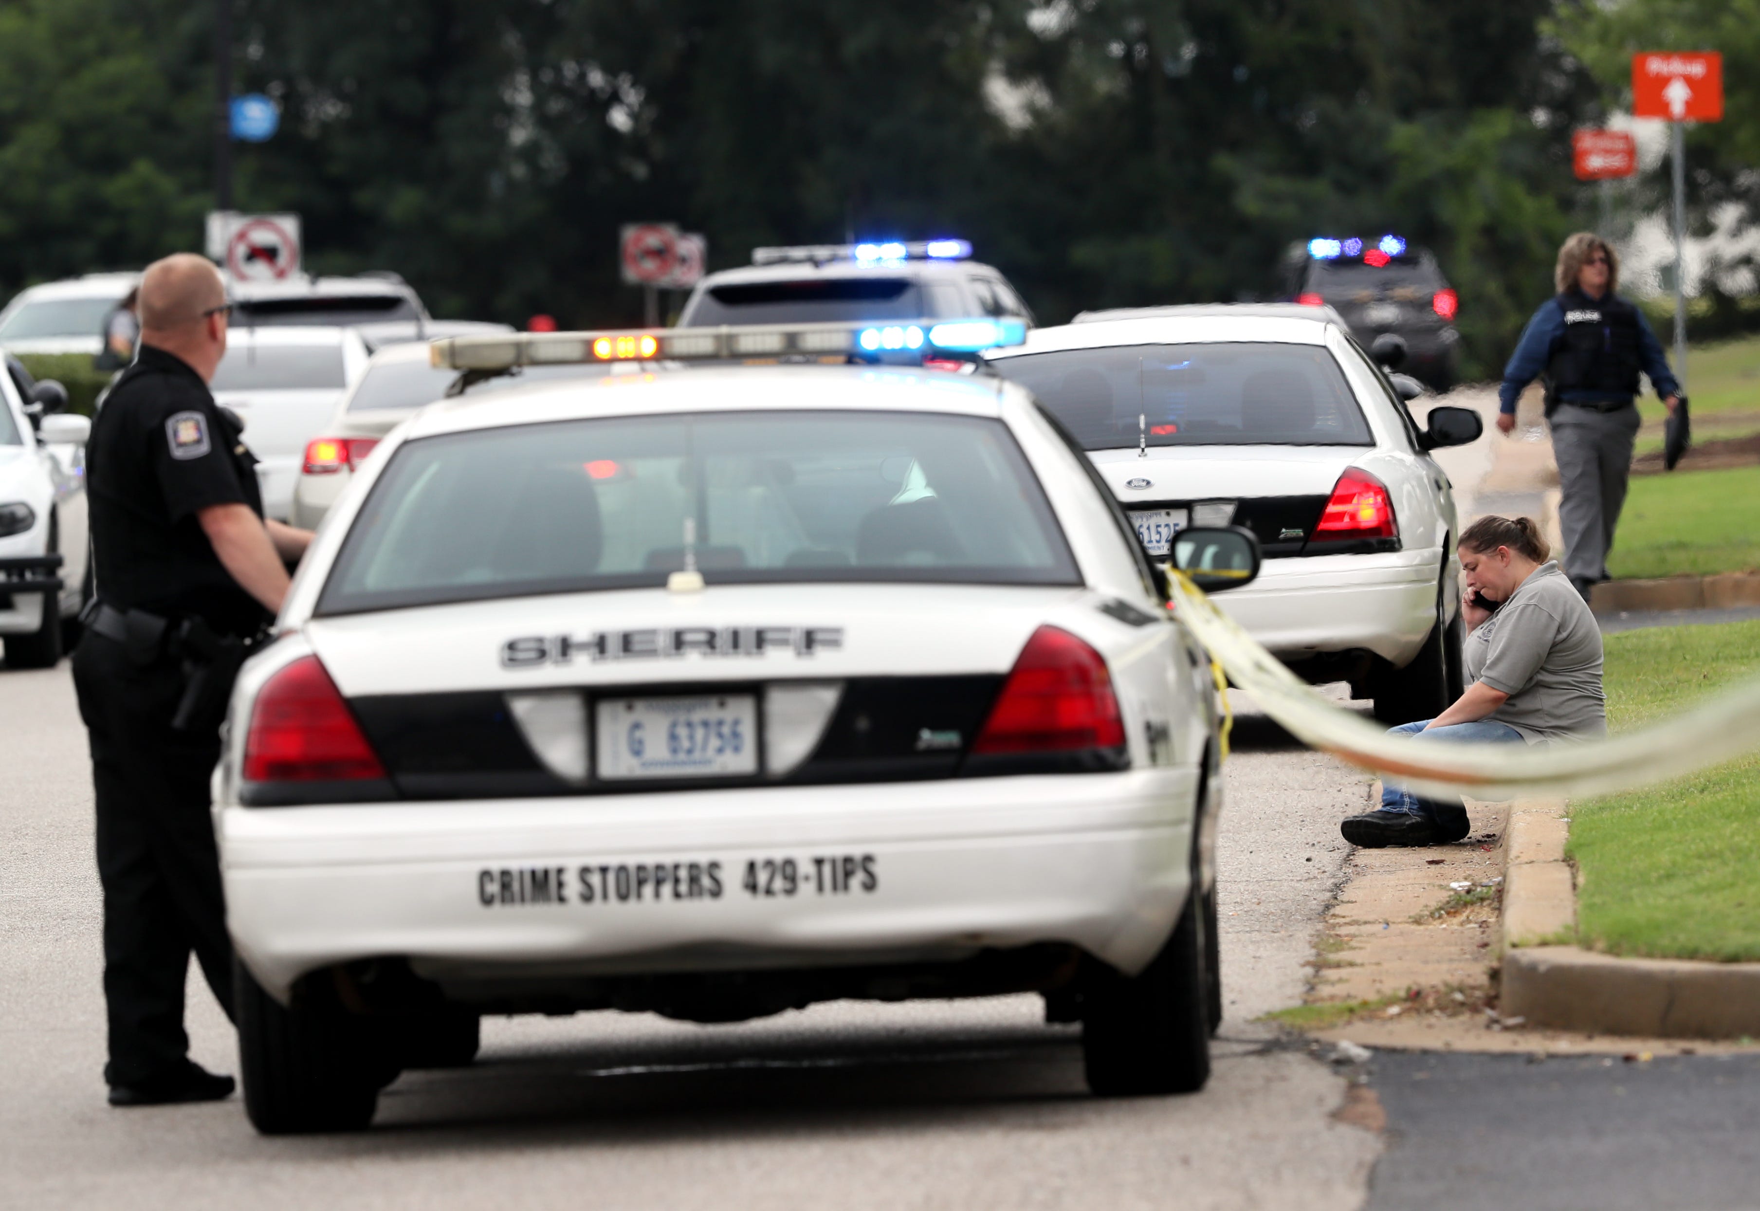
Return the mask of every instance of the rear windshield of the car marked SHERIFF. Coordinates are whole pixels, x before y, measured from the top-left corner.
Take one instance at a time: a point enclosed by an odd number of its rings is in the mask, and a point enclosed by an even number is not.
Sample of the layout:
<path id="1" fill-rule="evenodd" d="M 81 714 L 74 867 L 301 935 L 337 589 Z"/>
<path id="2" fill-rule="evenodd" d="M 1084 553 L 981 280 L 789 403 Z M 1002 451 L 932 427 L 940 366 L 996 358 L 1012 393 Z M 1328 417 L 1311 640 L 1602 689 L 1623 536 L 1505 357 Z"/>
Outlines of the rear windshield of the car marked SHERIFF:
<path id="1" fill-rule="evenodd" d="M 889 412 L 607 417 L 408 442 L 320 614 L 709 584 L 1079 584 L 993 419 Z"/>

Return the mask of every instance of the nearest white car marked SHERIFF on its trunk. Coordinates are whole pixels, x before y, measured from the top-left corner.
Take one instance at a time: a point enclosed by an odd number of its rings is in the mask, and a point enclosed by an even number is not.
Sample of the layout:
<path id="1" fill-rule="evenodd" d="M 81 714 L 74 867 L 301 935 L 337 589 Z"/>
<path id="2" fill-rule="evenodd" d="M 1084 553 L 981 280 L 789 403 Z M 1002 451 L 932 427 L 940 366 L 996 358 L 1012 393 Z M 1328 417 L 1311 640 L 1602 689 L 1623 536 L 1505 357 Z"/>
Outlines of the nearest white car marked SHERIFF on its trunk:
<path id="1" fill-rule="evenodd" d="M 649 356 L 753 334 L 676 331 Z M 1239 530 L 1176 558 L 1220 586 L 1258 561 Z M 480 1014 L 1024 991 L 1082 1021 L 1093 1090 L 1200 1088 L 1216 699 L 1155 576 L 993 377 L 649 363 L 422 410 L 231 706 L 252 1121 L 364 1127 Z"/>

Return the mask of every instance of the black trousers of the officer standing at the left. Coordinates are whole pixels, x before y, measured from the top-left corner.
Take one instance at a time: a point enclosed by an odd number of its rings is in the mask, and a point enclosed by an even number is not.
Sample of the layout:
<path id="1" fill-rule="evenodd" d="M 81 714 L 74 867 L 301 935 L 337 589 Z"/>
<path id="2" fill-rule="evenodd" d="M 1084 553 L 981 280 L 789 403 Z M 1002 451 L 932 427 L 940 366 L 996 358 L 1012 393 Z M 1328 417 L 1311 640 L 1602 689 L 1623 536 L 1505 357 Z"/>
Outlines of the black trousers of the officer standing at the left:
<path id="1" fill-rule="evenodd" d="M 104 1003 L 109 1084 L 178 1074 L 188 1054 L 183 986 L 195 952 L 227 1017 L 232 943 L 208 817 L 218 729 L 171 729 L 183 676 L 141 669 L 123 646 L 88 634 L 74 651 L 79 715 L 92 739 L 99 880 L 104 885 Z"/>

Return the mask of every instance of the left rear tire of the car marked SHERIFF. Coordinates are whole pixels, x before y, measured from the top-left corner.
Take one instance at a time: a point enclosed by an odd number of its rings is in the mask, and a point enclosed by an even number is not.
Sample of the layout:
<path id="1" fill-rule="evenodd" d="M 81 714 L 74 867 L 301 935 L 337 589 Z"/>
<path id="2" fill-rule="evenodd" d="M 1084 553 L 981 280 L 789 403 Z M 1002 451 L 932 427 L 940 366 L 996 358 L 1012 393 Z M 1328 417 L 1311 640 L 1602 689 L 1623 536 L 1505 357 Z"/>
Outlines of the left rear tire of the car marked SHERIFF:
<path id="1" fill-rule="evenodd" d="M 245 1114 L 264 1135 L 359 1132 L 373 1121 L 380 1068 L 371 1023 L 338 1009 L 285 1007 L 232 966 Z"/>

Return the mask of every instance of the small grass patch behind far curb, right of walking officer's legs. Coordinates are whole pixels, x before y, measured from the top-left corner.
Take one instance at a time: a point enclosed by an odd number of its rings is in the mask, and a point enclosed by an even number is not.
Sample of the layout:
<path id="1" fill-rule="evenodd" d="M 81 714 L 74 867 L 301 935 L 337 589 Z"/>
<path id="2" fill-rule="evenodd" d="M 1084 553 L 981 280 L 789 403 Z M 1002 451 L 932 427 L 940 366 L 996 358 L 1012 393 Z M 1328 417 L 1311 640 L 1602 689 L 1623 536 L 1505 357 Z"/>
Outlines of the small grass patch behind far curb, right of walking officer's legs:
<path id="1" fill-rule="evenodd" d="M 1607 556 L 1617 579 L 1760 569 L 1760 466 L 1635 475 Z"/>

